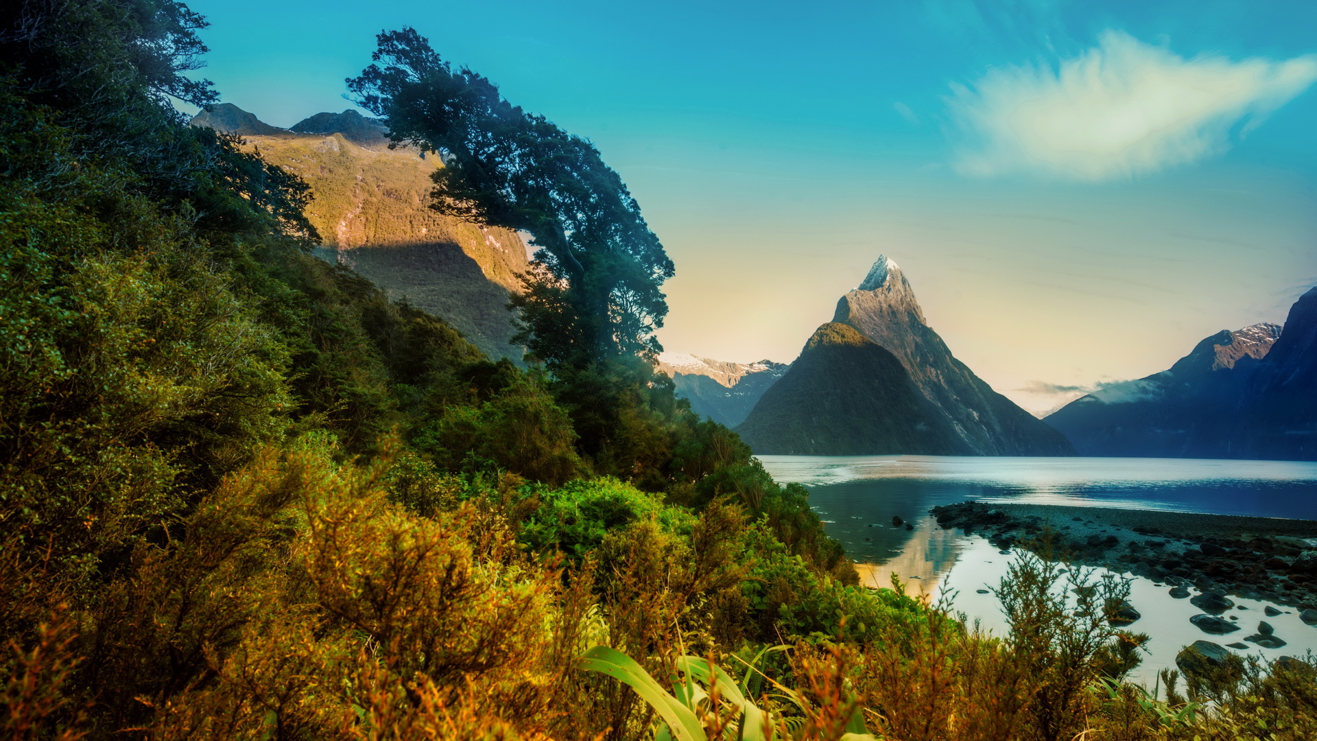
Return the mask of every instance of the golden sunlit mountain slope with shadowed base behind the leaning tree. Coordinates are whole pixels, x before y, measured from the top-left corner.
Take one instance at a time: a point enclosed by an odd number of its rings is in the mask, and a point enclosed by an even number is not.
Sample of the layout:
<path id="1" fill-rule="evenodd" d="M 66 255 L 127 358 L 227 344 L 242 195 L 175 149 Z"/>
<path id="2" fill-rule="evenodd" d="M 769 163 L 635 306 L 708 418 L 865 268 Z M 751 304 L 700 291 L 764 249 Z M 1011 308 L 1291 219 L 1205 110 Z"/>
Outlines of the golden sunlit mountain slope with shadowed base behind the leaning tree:
<path id="1" fill-rule="evenodd" d="M 510 229 L 431 210 L 437 157 L 387 149 L 383 124 L 354 111 L 316 113 L 288 131 L 225 103 L 192 124 L 241 133 L 246 146 L 311 186 L 306 214 L 323 240 L 317 254 L 443 316 L 490 357 L 520 363 L 507 302 L 528 266 L 525 245 Z"/>

